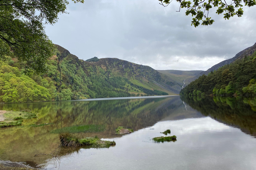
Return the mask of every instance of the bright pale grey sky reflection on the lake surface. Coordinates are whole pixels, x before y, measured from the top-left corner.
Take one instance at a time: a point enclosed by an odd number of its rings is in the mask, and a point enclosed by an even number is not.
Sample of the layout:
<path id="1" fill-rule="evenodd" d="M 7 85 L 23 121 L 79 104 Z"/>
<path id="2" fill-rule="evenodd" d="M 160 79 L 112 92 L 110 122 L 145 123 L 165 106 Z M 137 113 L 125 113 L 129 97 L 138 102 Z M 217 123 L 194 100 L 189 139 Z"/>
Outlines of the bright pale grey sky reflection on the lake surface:
<path id="1" fill-rule="evenodd" d="M 181 112 L 195 115 L 198 111 L 181 105 L 174 114 Z M 204 115 L 183 120 L 165 119 L 152 127 L 115 138 L 114 147 L 80 149 L 78 153 L 62 157 L 60 165 L 48 165 L 47 169 L 255 169 L 256 140 L 239 128 Z M 165 136 L 160 132 L 166 129 L 177 136 L 176 142 L 152 141 L 153 137 Z"/>

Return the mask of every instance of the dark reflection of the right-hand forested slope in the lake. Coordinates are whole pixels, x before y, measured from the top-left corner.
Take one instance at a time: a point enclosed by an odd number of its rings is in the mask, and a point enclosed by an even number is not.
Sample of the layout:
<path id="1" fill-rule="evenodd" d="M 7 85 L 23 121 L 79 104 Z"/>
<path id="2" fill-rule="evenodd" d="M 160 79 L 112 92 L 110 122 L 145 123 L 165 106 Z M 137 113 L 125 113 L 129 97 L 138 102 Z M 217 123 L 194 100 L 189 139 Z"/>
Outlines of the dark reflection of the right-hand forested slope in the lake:
<path id="1" fill-rule="evenodd" d="M 181 96 L 181 99 L 205 116 L 256 136 L 256 98 Z"/>

